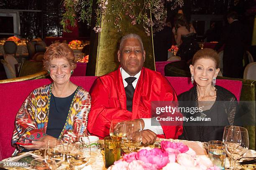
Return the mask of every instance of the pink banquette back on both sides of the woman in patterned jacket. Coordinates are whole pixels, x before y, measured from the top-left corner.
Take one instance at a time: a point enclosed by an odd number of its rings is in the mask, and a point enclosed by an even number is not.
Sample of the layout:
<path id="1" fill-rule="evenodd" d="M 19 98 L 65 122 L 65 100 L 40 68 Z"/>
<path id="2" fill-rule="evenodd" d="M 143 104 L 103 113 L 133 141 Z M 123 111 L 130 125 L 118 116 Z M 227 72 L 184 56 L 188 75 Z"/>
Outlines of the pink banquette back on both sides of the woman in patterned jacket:
<path id="1" fill-rule="evenodd" d="M 71 77 L 70 80 L 89 91 L 96 78 L 95 76 Z M 51 83 L 50 79 L 38 79 L 0 84 L 0 160 L 10 157 L 15 149 L 11 146 L 11 139 L 20 106 L 30 92 L 49 83 Z"/>

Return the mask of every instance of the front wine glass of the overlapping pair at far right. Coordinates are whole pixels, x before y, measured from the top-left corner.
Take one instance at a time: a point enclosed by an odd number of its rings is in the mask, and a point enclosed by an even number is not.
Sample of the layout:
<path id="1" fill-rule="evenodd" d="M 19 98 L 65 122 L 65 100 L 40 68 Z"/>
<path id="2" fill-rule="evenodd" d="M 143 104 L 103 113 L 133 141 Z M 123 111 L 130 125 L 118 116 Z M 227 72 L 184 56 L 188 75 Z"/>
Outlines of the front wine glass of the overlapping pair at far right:
<path id="1" fill-rule="evenodd" d="M 241 145 L 241 132 L 240 127 L 230 126 L 225 139 L 225 148 L 228 153 L 228 156 L 231 157 L 231 165 L 234 151 Z M 236 164 L 233 167 L 236 169 Z"/>

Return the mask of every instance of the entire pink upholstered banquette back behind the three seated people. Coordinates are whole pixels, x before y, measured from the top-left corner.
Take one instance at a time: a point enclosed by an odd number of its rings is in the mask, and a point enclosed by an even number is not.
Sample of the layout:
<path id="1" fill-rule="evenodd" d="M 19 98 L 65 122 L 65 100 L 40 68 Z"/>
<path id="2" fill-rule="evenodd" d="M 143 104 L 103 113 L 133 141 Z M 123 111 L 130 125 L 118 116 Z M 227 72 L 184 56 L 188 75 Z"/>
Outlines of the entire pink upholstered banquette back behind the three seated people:
<path id="1" fill-rule="evenodd" d="M 92 83 L 97 77 L 71 77 L 76 85 L 90 91 Z M 189 90 L 192 85 L 188 77 L 166 77 L 177 95 Z M 8 158 L 14 149 L 11 146 L 15 116 L 29 93 L 37 87 L 51 83 L 50 79 L 27 80 L 21 82 L 0 83 L 0 160 Z M 216 80 L 216 84 L 232 92 L 239 100 L 242 87 L 241 81 Z"/>

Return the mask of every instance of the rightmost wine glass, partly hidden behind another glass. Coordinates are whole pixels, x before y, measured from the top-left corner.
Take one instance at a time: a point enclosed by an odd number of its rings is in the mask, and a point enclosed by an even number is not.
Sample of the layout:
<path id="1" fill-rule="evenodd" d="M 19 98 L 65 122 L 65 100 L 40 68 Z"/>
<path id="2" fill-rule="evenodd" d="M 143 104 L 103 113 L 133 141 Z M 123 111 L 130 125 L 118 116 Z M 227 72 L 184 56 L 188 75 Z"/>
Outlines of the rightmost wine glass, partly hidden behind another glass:
<path id="1" fill-rule="evenodd" d="M 232 158 L 235 160 L 234 170 L 236 169 L 236 160 L 242 158 L 249 148 L 248 130 L 243 127 L 239 128 L 241 133 L 241 144 L 238 146 L 238 148 L 236 148 L 236 150 L 233 151 Z"/>

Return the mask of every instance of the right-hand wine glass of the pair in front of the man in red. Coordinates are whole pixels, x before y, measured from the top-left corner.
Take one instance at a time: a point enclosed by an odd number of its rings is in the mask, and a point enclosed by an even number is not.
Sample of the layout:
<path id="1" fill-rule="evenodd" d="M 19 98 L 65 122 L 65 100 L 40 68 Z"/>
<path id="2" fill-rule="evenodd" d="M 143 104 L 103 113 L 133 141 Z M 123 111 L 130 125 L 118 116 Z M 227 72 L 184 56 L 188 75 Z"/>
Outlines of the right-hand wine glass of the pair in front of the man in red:
<path id="1" fill-rule="evenodd" d="M 142 141 L 142 128 L 139 120 L 125 121 L 125 137 L 123 144 L 130 152 L 135 150 Z"/>

